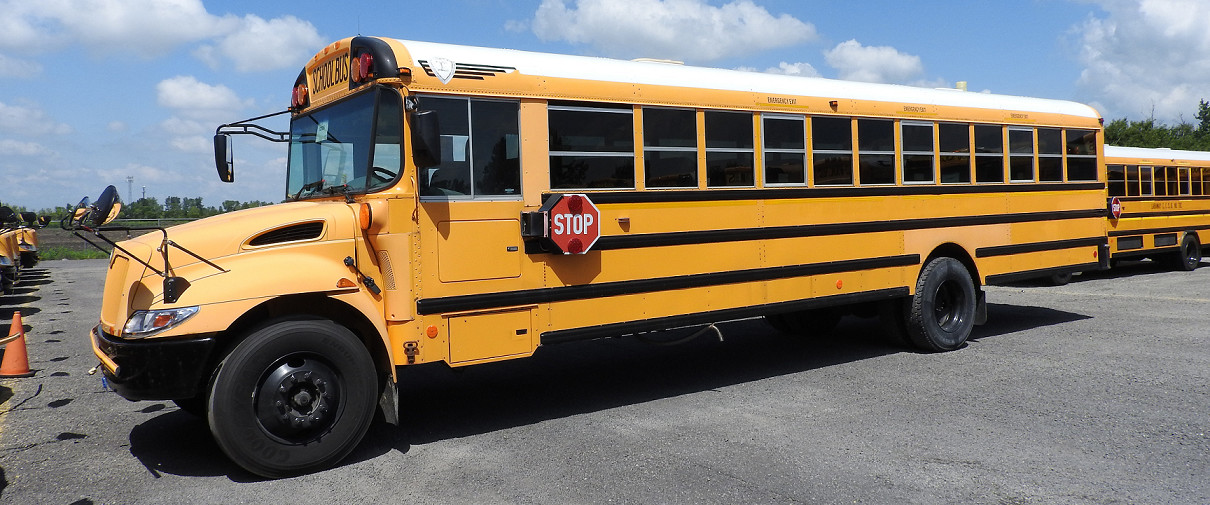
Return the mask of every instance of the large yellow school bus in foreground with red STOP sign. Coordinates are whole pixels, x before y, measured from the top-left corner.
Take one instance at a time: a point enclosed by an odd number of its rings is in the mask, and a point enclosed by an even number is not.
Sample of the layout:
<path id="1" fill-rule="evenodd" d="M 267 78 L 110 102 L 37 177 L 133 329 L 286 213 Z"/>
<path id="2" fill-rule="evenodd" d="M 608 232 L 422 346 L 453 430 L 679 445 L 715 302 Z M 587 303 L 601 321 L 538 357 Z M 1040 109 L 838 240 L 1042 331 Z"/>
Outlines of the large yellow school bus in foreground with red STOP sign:
<path id="1" fill-rule="evenodd" d="M 92 332 L 264 476 L 394 421 L 399 367 L 851 312 L 945 351 L 983 286 L 1107 260 L 1077 103 L 368 36 L 290 94 L 215 136 L 226 182 L 232 136 L 288 143 L 289 201 L 117 242 Z"/>

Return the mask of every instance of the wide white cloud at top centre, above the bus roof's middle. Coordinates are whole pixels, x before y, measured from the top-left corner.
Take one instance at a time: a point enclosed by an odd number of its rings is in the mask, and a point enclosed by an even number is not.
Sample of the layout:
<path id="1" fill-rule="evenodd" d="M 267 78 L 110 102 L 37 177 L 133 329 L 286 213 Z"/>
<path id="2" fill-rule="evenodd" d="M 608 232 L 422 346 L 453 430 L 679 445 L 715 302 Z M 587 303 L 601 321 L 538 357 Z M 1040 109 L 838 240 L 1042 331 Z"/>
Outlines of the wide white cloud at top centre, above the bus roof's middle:
<path id="1" fill-rule="evenodd" d="M 511 23 L 515 29 L 519 24 Z M 612 57 L 708 62 L 816 39 L 816 28 L 773 16 L 750 0 L 543 0 L 530 22 L 544 41 L 590 46 Z"/>

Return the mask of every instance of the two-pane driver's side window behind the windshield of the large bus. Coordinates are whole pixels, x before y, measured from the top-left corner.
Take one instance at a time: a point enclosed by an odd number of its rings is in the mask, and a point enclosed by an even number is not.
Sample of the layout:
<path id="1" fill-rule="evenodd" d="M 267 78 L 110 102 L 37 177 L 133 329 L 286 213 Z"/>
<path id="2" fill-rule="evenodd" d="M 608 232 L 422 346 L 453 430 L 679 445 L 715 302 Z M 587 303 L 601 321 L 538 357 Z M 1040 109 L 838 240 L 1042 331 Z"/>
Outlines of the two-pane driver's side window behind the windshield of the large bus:
<path id="1" fill-rule="evenodd" d="M 519 103 L 421 97 L 437 113 L 442 165 L 420 174 L 422 196 L 520 197 Z"/>

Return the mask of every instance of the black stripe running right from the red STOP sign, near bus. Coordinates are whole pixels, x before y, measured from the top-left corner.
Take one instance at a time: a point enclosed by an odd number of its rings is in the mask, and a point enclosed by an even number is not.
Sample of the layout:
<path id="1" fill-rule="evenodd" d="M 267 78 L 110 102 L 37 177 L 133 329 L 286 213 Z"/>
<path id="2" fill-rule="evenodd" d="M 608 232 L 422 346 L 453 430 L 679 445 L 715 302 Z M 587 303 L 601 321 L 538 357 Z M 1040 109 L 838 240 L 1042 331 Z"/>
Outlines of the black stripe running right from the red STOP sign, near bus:
<path id="1" fill-rule="evenodd" d="M 874 220 L 863 223 L 805 224 L 796 226 L 741 228 L 730 230 L 676 231 L 668 234 L 610 235 L 593 246 L 598 251 L 639 247 L 682 246 L 691 243 L 737 242 L 744 240 L 790 239 L 806 236 L 868 234 L 878 231 L 927 230 L 937 228 L 975 226 L 986 224 L 1033 223 L 1044 220 L 1087 219 L 1105 217 L 1105 210 L 1090 208 L 1059 212 L 1022 212 L 1015 214 L 960 216 Z"/>

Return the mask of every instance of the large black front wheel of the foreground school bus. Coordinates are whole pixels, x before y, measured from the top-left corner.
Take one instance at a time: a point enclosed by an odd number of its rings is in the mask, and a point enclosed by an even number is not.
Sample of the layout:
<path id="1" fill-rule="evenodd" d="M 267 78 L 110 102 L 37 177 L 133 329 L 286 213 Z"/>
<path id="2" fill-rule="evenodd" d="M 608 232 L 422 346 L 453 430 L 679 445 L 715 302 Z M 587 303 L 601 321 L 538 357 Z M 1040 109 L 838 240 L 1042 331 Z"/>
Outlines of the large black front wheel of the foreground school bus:
<path id="1" fill-rule="evenodd" d="M 322 470 L 365 436 L 376 394 L 374 361 L 352 332 L 327 320 L 281 321 L 252 333 L 219 365 L 211 432 L 253 474 Z"/>

